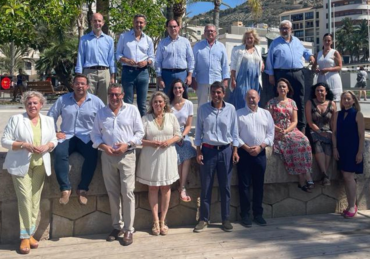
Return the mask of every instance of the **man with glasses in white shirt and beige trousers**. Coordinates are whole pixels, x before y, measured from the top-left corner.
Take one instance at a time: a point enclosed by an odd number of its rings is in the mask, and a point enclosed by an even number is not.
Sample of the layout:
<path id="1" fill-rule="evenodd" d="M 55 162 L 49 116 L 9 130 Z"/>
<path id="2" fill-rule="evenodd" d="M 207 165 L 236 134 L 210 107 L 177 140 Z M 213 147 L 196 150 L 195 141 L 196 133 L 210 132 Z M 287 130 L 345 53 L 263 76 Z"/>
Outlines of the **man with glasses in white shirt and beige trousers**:
<path id="1" fill-rule="evenodd" d="M 135 218 L 135 146 L 141 145 L 144 128 L 138 108 L 123 102 L 123 97 L 120 84 L 108 87 L 109 104 L 97 112 L 91 140 L 94 148 L 103 151 L 102 174 L 113 226 L 106 240 L 114 241 L 123 234 L 122 245 L 130 245 Z"/>

